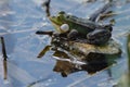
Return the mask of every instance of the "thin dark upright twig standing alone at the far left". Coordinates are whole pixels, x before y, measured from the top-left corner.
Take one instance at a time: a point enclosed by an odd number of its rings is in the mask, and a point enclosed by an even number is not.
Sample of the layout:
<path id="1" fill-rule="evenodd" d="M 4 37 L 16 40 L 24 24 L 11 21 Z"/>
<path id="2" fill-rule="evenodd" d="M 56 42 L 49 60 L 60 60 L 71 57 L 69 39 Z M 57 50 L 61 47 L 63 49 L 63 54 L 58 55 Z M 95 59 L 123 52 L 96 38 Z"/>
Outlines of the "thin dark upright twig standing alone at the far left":
<path id="1" fill-rule="evenodd" d="M 4 69 L 4 79 L 6 79 L 6 74 L 8 74 L 8 65 L 6 65 L 6 51 L 5 51 L 5 45 L 4 45 L 4 38 L 1 37 L 1 44 L 2 44 L 2 53 L 3 53 L 3 69 Z"/>

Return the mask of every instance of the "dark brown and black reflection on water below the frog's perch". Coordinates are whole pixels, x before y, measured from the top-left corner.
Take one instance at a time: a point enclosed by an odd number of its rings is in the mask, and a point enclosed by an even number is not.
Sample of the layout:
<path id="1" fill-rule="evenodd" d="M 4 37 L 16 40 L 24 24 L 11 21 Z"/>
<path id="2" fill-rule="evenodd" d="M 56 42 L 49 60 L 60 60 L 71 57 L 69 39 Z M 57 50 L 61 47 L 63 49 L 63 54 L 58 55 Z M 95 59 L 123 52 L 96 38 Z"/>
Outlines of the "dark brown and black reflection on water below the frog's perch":
<path id="1" fill-rule="evenodd" d="M 95 54 L 95 55 L 99 55 L 99 54 Z M 103 54 L 101 54 L 100 58 L 95 58 L 92 60 L 89 59 L 89 60 L 88 60 L 88 64 L 82 64 L 82 65 L 70 63 L 68 61 L 57 60 L 53 71 L 58 72 L 63 77 L 66 77 L 68 74 L 75 73 L 78 71 L 87 71 L 89 74 L 93 74 L 95 72 L 102 71 L 103 69 L 106 69 L 109 65 L 112 65 L 112 64 L 108 64 L 106 58 Z"/>

